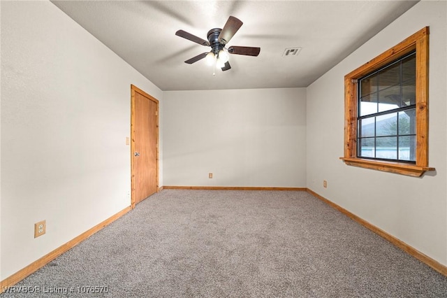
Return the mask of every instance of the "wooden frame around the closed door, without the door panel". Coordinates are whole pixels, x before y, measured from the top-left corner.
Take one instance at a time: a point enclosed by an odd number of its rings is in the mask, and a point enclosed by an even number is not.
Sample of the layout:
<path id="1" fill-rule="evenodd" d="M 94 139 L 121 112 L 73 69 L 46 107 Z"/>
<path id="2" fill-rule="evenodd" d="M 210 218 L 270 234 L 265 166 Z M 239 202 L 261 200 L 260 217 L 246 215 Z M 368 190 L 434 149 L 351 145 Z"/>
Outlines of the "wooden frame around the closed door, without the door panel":
<path id="1" fill-rule="evenodd" d="M 147 97 L 156 104 L 156 192 L 159 192 L 159 101 L 135 85 L 131 85 L 131 208 L 135 208 L 135 175 L 133 174 L 133 152 L 135 152 L 135 93 Z"/>

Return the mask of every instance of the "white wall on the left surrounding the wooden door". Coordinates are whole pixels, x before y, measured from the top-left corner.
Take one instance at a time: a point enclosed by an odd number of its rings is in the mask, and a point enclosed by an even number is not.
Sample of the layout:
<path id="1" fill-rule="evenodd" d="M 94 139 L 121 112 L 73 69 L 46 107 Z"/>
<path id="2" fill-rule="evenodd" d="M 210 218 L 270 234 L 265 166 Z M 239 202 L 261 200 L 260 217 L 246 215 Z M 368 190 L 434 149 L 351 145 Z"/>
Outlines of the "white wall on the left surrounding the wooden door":
<path id="1" fill-rule="evenodd" d="M 1 46 L 3 280 L 130 205 L 131 84 L 163 92 L 47 1 L 1 1 Z"/>

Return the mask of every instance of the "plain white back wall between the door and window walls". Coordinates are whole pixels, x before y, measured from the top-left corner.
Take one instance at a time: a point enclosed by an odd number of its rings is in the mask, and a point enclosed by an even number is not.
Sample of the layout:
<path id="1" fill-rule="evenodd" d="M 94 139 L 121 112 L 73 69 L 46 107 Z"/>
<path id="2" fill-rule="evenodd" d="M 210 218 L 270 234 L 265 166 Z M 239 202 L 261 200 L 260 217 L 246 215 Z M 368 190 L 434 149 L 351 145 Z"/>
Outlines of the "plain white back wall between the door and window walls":
<path id="1" fill-rule="evenodd" d="M 305 187 L 305 91 L 164 92 L 164 185 Z"/>

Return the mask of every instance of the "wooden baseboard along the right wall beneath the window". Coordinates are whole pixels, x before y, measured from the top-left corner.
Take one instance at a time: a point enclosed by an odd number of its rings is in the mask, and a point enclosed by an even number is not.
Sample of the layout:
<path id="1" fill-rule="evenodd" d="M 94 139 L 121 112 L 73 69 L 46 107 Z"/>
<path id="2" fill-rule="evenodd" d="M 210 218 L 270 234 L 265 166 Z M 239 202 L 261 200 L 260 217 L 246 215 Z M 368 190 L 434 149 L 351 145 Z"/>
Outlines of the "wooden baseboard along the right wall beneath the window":
<path id="1" fill-rule="evenodd" d="M 309 192 L 309 194 L 312 194 L 314 197 L 321 199 L 321 201 L 324 201 L 326 204 L 328 204 L 332 208 L 335 208 L 337 211 L 340 211 L 341 213 L 348 216 L 352 220 L 355 220 L 363 227 L 366 227 L 367 229 L 371 230 L 372 232 L 378 234 L 383 239 L 390 241 L 390 243 L 393 243 L 395 246 L 404 250 L 404 252 L 408 253 L 409 255 L 416 257 L 416 259 L 420 260 L 420 262 L 427 264 L 429 267 L 432 267 L 432 269 L 434 269 L 435 271 L 438 271 L 440 274 L 447 276 L 447 267 L 444 266 L 443 264 L 437 262 L 437 260 L 433 260 L 431 257 L 425 255 L 424 253 L 421 253 L 419 250 L 416 250 L 416 248 L 409 246 L 404 241 L 401 241 L 400 239 L 397 239 L 395 236 L 390 235 L 387 232 L 383 231 L 383 229 L 380 229 L 379 227 L 372 225 L 371 223 L 367 222 L 366 220 L 359 218 L 357 215 L 351 213 L 350 211 L 347 211 L 345 208 L 335 204 L 334 202 L 329 201 L 328 199 L 326 199 L 325 197 L 322 197 L 320 194 L 317 194 L 313 190 L 309 190 L 309 188 L 308 188 L 307 192 Z"/>

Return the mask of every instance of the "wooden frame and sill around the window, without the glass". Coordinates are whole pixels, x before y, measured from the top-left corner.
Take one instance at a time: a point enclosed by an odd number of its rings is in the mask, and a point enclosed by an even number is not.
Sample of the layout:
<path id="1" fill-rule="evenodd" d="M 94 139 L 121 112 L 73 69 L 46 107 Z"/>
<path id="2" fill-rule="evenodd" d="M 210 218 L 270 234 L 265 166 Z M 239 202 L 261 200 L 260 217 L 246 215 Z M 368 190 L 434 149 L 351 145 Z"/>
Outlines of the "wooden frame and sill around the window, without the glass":
<path id="1" fill-rule="evenodd" d="M 428 52 L 429 27 L 420 29 L 393 48 L 344 76 L 344 157 L 349 166 L 420 177 L 428 166 Z M 416 164 L 387 162 L 357 156 L 358 79 L 416 50 Z"/>

